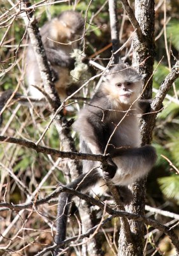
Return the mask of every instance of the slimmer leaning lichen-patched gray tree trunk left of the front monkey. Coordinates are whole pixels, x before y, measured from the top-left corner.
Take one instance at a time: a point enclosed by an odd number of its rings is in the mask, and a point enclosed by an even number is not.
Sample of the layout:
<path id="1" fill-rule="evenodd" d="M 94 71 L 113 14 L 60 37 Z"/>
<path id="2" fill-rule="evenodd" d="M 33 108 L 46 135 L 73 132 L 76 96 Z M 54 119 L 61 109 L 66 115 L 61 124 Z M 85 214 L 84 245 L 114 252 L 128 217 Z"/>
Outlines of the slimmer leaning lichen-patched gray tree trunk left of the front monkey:
<path id="1" fill-rule="evenodd" d="M 29 1 L 23 0 L 23 3 L 26 7 L 31 6 Z M 61 100 L 59 99 L 59 95 L 57 91 L 55 90 L 55 85 L 52 83 L 52 75 L 50 72 L 50 67 L 48 65 L 47 56 L 45 54 L 45 50 L 43 48 L 43 43 L 41 41 L 41 35 L 39 34 L 38 25 L 36 22 L 36 19 L 33 15 L 33 12 L 27 12 L 27 16 L 24 17 L 25 24 L 28 26 L 28 33 L 31 40 L 31 44 L 34 47 L 34 52 L 36 54 L 36 59 L 38 61 L 39 70 L 41 73 L 41 78 L 43 80 L 45 92 L 48 93 L 50 96 L 50 105 L 52 106 L 53 112 L 57 111 L 59 106 L 61 105 Z M 30 26 L 29 26 L 30 25 Z M 70 125 L 69 122 L 62 116 L 62 113 L 57 116 L 55 119 L 55 127 L 57 131 L 59 132 L 59 138 L 61 140 L 61 145 L 64 151 L 66 152 L 75 152 L 75 143 L 73 141 L 73 138 L 71 138 L 70 135 Z M 68 164 L 68 170 L 65 171 L 64 175 L 69 182 L 69 179 L 71 177 L 72 180 L 76 179 L 78 175 L 80 174 L 80 169 L 78 166 L 78 163 L 75 160 L 69 159 L 67 161 Z M 83 215 L 83 211 L 85 211 L 85 214 L 88 214 L 90 212 L 89 205 L 87 205 L 86 202 L 83 203 L 82 209 L 79 209 L 80 216 Z M 90 220 L 90 214 L 87 215 L 88 218 L 83 221 L 82 218 L 82 225 L 85 227 L 85 225 L 88 226 L 88 228 L 92 228 L 92 221 Z M 90 246 L 90 243 L 92 243 L 92 246 Z M 88 251 L 90 255 L 98 256 L 101 255 L 101 253 L 98 253 L 99 249 L 97 248 L 96 238 L 93 237 L 90 240 L 90 243 L 87 244 Z"/>

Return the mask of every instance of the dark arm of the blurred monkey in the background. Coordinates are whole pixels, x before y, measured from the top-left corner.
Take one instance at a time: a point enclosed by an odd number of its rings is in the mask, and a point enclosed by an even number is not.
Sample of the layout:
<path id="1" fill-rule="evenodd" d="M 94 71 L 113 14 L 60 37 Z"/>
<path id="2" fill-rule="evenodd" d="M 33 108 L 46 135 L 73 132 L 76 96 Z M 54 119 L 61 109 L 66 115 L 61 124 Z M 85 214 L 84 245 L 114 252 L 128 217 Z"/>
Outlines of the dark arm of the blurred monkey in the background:
<path id="1" fill-rule="evenodd" d="M 52 48 L 45 48 L 45 52 L 47 54 L 47 59 L 50 61 L 51 65 L 56 65 L 59 67 L 70 68 L 71 70 L 75 68 L 75 60 L 71 58 L 64 51 Z"/>

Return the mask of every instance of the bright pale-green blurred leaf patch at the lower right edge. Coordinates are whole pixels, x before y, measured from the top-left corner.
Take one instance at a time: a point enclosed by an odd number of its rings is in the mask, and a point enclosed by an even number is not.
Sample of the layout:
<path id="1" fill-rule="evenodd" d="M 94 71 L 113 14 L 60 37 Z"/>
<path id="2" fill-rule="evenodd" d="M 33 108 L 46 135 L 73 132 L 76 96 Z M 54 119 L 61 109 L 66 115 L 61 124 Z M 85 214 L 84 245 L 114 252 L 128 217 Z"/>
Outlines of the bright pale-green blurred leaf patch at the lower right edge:
<path id="1" fill-rule="evenodd" d="M 171 175 L 158 179 L 162 193 L 169 198 L 176 200 L 179 203 L 179 175 Z"/>

